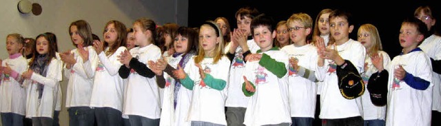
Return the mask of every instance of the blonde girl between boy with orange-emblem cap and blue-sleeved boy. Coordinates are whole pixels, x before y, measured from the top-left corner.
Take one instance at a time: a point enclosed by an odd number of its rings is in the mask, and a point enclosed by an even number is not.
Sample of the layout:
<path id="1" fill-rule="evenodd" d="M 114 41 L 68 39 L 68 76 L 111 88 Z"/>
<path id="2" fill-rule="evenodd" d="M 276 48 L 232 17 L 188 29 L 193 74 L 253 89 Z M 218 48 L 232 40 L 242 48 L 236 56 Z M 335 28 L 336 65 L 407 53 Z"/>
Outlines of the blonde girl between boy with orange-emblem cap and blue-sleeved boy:
<path id="1" fill-rule="evenodd" d="M 380 34 L 374 25 L 369 23 L 363 24 L 358 28 L 358 41 L 362 43 L 366 48 L 366 58 L 365 58 L 365 72 L 361 74 L 365 85 L 379 85 L 379 83 L 369 81 L 369 78 L 375 78 L 372 76 L 373 73 L 381 72 L 384 67 L 388 66 L 391 62 L 389 54 L 382 51 L 382 44 L 380 39 Z M 382 65 L 376 65 L 371 57 L 382 56 Z M 365 86 L 367 87 L 367 86 Z M 374 105 L 371 102 L 371 96 L 368 90 L 361 97 L 363 106 L 363 120 L 365 120 L 365 125 L 367 126 L 384 126 L 384 119 L 386 118 L 386 106 L 385 105 Z"/>

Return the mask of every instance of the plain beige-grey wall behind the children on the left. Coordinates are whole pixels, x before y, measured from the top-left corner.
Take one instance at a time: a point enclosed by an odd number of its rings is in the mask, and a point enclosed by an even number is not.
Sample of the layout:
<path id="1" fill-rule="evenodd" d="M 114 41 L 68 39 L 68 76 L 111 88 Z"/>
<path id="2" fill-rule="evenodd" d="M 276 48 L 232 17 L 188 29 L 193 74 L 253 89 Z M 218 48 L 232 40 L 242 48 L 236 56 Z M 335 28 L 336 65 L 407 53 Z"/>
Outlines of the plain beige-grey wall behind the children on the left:
<path id="1" fill-rule="evenodd" d="M 21 14 L 17 10 L 19 0 L 2 1 L 0 4 L 0 59 L 6 59 L 6 36 L 19 33 L 24 37 L 35 38 L 43 32 L 57 35 L 61 52 L 74 48 L 68 27 L 72 21 L 84 19 L 92 26 L 92 32 L 102 39 L 105 23 L 118 20 L 132 27 L 140 17 L 154 19 L 158 25 L 178 23 L 187 25 L 188 0 L 29 0 L 39 3 L 43 12 L 39 16 Z M 67 81 L 61 87 L 65 93 Z M 65 96 L 63 95 L 63 98 Z M 60 114 L 61 125 L 68 125 L 68 113 L 64 107 Z M 0 124 L 1 125 L 1 124 Z"/>

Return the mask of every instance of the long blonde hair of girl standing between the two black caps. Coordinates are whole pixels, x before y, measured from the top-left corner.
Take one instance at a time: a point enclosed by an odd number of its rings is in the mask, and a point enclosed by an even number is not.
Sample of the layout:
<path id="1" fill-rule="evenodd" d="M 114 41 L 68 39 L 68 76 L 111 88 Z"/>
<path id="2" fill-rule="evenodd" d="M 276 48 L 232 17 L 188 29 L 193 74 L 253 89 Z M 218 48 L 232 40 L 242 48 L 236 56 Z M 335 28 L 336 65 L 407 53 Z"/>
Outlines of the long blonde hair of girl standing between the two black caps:
<path id="1" fill-rule="evenodd" d="M 358 28 L 358 34 L 360 34 L 362 30 L 369 32 L 372 40 L 371 48 L 367 49 L 367 52 L 369 52 L 368 54 L 369 56 L 373 56 L 374 54 L 377 54 L 378 50 L 383 50 L 380 34 L 378 34 L 378 30 L 374 25 L 370 23 L 365 23 L 363 25 L 360 25 L 360 28 Z"/>

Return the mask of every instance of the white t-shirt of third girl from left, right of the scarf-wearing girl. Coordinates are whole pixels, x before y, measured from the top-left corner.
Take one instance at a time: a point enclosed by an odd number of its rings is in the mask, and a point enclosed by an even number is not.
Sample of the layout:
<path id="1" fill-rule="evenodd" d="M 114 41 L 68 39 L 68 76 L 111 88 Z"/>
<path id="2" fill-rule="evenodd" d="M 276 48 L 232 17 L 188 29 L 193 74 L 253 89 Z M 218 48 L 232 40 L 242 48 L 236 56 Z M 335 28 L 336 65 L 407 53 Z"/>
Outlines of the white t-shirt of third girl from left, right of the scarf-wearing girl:
<path id="1" fill-rule="evenodd" d="M 89 61 L 98 60 L 98 56 L 92 46 L 88 46 L 85 50 L 89 51 Z M 64 66 L 64 76 L 69 79 L 66 91 L 66 107 L 85 107 L 90 106 L 90 96 L 92 95 L 93 74 L 88 74 L 83 65 L 83 59 L 79 55 L 78 49 L 70 51 L 74 54 L 76 63 L 67 69 Z M 88 63 L 88 62 L 86 62 Z M 95 70 L 96 62 L 90 65 L 91 70 Z"/>

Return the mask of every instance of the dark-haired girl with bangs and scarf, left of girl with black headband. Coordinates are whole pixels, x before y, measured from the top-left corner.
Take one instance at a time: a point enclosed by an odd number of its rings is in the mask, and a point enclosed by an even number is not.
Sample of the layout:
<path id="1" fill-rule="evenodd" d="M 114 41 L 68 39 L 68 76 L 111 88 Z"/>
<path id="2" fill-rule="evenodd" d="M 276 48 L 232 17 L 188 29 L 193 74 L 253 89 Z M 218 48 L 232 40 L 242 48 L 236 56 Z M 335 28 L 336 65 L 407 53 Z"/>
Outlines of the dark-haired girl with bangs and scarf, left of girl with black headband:
<path id="1" fill-rule="evenodd" d="M 178 68 L 187 66 L 188 61 L 196 54 L 198 46 L 198 32 L 192 28 L 181 27 L 176 32 L 174 39 L 174 54 L 166 57 L 167 62 L 156 63 L 161 65 L 160 70 L 165 71 L 164 75 L 156 76 L 158 85 L 164 89 L 163 107 L 161 112 L 160 125 L 191 125 L 187 121 L 189 106 L 192 103 L 192 90 L 188 90 L 182 86 L 180 81 L 175 81 L 173 71 Z M 151 61 L 152 62 L 152 61 Z M 155 63 L 152 63 L 154 67 Z M 162 73 L 162 72 L 161 72 Z"/>

